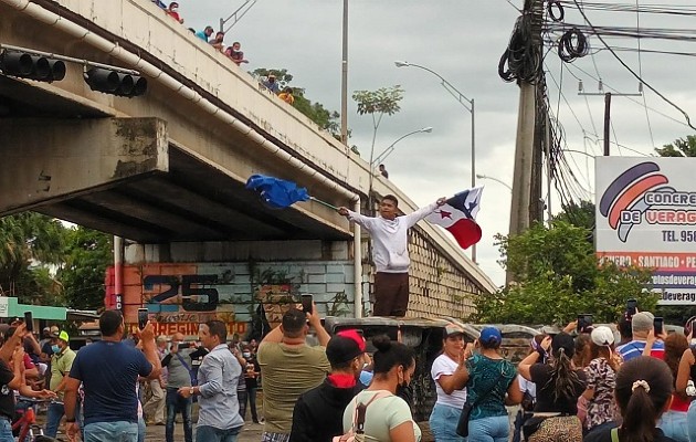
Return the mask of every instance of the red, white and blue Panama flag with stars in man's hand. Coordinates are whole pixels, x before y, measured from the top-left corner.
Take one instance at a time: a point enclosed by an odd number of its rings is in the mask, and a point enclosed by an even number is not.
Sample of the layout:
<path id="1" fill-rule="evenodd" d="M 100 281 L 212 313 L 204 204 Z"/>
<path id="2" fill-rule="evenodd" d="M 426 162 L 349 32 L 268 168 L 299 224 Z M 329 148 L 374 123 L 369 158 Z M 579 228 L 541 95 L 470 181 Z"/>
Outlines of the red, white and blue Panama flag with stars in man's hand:
<path id="1" fill-rule="evenodd" d="M 483 187 L 464 190 L 450 198 L 444 206 L 425 217 L 433 224 L 445 228 L 462 249 L 468 249 L 481 241 L 481 227 L 476 213 L 481 203 Z"/>

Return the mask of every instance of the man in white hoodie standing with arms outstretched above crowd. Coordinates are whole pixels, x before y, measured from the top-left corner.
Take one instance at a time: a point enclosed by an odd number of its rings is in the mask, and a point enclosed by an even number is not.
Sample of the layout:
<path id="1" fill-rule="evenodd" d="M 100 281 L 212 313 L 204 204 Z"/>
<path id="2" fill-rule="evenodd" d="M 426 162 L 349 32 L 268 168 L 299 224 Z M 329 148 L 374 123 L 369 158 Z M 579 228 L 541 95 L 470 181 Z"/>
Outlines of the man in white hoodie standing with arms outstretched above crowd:
<path id="1" fill-rule="evenodd" d="M 408 232 L 420 220 L 445 203 L 445 198 L 425 206 L 413 213 L 397 217 L 399 200 L 387 194 L 379 203 L 379 217 L 365 217 L 360 213 L 338 208 L 338 213 L 357 222 L 372 238 L 372 261 L 377 267 L 375 275 L 373 316 L 405 316 L 409 308 L 409 240 Z"/>

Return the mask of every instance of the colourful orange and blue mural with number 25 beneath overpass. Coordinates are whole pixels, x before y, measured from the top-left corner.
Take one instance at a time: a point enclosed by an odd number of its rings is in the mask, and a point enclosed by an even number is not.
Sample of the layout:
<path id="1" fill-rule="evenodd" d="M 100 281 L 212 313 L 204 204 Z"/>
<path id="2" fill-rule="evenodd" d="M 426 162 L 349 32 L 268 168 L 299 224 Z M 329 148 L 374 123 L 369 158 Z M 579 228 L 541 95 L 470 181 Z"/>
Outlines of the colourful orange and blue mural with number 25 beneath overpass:
<path id="1" fill-rule="evenodd" d="M 107 308 L 117 307 L 113 272 L 106 278 Z M 181 330 L 191 336 L 199 324 L 219 319 L 230 332 L 257 337 L 296 305 L 298 284 L 293 280 L 271 266 L 260 270 L 247 263 L 126 265 L 118 301 L 128 324 L 136 324 L 137 309 L 147 307 L 158 334 Z"/>

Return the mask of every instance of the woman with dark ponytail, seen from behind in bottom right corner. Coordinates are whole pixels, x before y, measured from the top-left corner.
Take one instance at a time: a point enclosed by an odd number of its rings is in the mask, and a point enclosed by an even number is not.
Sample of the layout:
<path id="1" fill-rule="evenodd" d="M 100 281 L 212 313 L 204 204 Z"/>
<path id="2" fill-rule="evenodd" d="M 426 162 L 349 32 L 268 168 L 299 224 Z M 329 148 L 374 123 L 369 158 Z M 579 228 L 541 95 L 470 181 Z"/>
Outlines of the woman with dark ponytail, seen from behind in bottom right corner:
<path id="1" fill-rule="evenodd" d="M 623 362 L 616 373 L 614 396 L 623 423 L 589 434 L 586 442 L 674 442 L 656 428 L 669 408 L 672 371 L 660 359 L 640 356 Z"/>

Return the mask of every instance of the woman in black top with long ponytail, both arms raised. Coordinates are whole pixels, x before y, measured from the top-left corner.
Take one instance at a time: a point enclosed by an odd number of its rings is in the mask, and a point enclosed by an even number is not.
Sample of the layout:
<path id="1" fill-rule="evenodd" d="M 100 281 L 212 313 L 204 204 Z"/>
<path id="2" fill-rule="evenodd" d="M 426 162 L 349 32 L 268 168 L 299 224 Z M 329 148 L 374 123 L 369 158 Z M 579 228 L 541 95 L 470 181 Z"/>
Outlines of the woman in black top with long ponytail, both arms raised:
<path id="1" fill-rule="evenodd" d="M 586 389 L 586 376 L 577 369 L 573 338 L 559 333 L 547 338 L 537 355 L 531 354 L 519 362 L 519 373 L 537 385 L 537 404 L 534 415 L 525 423 L 528 442 L 581 442 L 582 424 L 578 419 L 578 398 Z M 538 360 L 551 350 L 551 362 Z"/>

